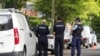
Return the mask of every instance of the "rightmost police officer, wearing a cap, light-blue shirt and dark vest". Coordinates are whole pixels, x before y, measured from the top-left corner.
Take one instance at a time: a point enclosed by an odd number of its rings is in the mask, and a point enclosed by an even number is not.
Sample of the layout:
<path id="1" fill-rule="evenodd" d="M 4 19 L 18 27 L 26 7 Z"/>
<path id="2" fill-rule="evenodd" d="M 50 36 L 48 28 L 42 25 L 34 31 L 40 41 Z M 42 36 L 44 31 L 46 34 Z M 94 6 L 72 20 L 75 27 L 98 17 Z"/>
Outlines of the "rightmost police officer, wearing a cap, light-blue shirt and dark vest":
<path id="1" fill-rule="evenodd" d="M 71 56 L 75 55 L 75 49 L 77 49 L 77 56 L 81 54 L 81 33 L 83 30 L 83 26 L 80 22 L 80 18 L 76 18 L 75 25 L 72 28 L 72 49 L 71 49 Z"/>

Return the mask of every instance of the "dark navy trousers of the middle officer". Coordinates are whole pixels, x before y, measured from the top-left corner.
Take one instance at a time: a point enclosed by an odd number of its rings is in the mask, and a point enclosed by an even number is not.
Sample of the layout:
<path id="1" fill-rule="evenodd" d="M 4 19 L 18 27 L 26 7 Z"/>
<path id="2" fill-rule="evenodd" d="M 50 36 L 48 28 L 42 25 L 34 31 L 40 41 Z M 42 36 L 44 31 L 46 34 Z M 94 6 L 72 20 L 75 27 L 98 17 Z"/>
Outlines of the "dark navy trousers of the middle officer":
<path id="1" fill-rule="evenodd" d="M 55 56 L 63 56 L 64 34 L 55 35 Z"/>

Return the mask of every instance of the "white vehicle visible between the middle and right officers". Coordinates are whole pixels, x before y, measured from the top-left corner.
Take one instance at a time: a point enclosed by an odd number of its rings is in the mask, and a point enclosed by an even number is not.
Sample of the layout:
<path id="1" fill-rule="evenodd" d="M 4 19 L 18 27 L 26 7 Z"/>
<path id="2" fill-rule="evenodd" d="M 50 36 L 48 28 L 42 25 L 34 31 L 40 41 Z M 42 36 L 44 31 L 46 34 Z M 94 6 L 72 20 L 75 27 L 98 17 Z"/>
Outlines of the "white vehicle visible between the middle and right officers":
<path id="1" fill-rule="evenodd" d="M 69 49 L 71 47 L 72 35 L 70 30 L 66 27 L 64 32 L 64 48 Z"/>

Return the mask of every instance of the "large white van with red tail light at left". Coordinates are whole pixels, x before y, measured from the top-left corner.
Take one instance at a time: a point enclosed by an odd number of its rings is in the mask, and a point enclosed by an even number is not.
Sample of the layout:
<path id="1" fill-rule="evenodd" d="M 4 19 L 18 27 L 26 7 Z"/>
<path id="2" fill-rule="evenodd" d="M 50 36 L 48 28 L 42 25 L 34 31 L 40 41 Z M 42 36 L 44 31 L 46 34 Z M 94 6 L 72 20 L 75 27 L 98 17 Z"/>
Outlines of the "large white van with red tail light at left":
<path id="1" fill-rule="evenodd" d="M 0 9 L 0 56 L 36 56 L 36 42 L 23 14 Z"/>

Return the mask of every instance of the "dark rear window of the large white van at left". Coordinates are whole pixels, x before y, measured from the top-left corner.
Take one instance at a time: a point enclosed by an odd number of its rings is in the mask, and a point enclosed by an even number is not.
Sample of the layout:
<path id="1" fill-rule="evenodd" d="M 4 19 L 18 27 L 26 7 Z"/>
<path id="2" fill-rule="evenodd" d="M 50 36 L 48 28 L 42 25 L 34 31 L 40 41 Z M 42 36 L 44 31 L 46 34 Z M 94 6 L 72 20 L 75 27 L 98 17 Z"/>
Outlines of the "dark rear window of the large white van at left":
<path id="1" fill-rule="evenodd" d="M 13 28 L 11 15 L 0 15 L 0 31 L 10 30 Z"/>

